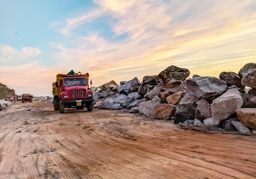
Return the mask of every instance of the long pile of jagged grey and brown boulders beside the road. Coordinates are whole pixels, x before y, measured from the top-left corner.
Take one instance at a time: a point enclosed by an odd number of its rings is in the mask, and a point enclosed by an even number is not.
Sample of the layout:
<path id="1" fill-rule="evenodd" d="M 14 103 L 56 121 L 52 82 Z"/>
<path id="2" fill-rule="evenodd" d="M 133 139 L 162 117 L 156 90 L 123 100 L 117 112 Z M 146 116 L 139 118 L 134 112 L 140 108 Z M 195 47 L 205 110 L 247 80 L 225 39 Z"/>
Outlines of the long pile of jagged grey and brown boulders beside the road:
<path id="1" fill-rule="evenodd" d="M 93 87 L 94 107 L 126 109 L 175 124 L 211 125 L 227 131 L 256 133 L 256 64 L 219 78 L 189 77 L 189 70 L 169 66 L 159 75 L 135 77 Z M 100 90 L 99 90 L 100 89 Z"/>

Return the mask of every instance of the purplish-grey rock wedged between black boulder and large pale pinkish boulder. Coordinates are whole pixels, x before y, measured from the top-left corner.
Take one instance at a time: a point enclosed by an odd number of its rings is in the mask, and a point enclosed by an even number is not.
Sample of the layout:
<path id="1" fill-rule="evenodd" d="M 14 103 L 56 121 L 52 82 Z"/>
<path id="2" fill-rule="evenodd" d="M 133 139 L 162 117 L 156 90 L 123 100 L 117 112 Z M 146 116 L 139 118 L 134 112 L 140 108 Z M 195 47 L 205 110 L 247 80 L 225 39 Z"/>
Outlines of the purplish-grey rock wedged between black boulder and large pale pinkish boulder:
<path id="1" fill-rule="evenodd" d="M 198 101 L 198 106 L 195 110 L 195 118 L 199 120 L 204 120 L 212 117 L 211 104 L 209 104 L 206 100 L 201 99 Z"/>

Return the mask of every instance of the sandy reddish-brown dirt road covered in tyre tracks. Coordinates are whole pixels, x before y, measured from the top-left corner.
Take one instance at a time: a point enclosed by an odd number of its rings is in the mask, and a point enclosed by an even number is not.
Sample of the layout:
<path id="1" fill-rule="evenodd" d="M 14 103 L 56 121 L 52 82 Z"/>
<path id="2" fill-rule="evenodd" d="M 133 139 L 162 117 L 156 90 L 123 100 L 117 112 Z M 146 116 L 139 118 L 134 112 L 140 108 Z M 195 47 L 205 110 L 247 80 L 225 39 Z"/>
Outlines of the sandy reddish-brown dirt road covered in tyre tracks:
<path id="1" fill-rule="evenodd" d="M 254 136 L 203 134 L 121 110 L 0 112 L 0 178 L 256 177 Z"/>

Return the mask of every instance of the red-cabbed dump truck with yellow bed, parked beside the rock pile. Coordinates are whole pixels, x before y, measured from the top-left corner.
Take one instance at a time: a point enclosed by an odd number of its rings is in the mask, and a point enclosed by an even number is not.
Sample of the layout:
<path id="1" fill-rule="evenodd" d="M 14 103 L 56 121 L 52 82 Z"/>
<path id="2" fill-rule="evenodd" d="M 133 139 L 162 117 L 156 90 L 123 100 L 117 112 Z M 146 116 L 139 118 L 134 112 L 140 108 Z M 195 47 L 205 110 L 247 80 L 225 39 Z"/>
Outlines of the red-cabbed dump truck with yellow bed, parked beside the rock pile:
<path id="1" fill-rule="evenodd" d="M 71 72 L 67 75 L 58 74 L 56 81 L 52 83 L 54 110 L 64 113 L 65 108 L 83 110 L 87 107 L 87 111 L 92 111 L 94 99 L 88 84 L 89 74 L 78 74 L 73 70 Z"/>

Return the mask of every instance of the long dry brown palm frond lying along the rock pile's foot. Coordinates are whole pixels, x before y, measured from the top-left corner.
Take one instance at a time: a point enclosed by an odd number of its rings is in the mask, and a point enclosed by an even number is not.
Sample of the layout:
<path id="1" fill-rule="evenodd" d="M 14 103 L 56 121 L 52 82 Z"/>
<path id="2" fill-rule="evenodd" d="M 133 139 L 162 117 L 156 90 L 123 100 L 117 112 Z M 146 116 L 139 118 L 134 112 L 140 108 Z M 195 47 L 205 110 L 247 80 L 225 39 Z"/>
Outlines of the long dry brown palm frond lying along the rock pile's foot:
<path id="1" fill-rule="evenodd" d="M 242 134 L 242 135 L 256 136 L 250 133 L 228 132 L 224 129 L 217 128 L 214 126 L 209 126 L 209 125 L 178 124 L 177 127 L 185 130 L 195 130 L 195 131 L 200 131 L 204 133 Z"/>

